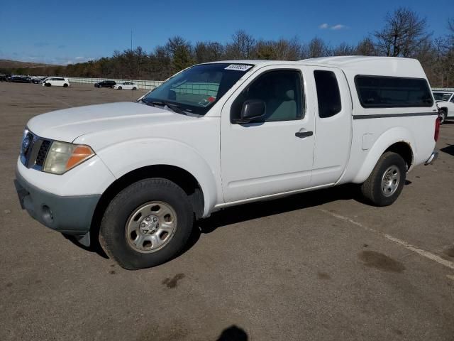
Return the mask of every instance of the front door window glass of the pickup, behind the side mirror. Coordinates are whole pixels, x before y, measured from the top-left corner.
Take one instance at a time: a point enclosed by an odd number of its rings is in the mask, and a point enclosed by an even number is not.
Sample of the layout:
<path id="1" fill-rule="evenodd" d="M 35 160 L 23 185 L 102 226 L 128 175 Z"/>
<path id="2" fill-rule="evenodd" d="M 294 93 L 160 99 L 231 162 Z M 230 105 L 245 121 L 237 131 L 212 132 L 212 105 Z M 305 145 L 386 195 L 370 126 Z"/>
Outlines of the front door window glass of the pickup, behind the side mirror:
<path id="1" fill-rule="evenodd" d="M 265 72 L 252 82 L 231 107 L 231 122 L 240 118 L 243 103 L 248 99 L 265 102 L 265 116 L 250 123 L 290 121 L 304 117 L 301 72 L 276 70 Z"/>

